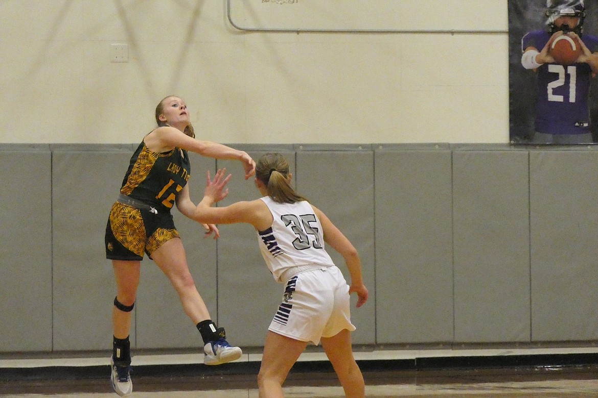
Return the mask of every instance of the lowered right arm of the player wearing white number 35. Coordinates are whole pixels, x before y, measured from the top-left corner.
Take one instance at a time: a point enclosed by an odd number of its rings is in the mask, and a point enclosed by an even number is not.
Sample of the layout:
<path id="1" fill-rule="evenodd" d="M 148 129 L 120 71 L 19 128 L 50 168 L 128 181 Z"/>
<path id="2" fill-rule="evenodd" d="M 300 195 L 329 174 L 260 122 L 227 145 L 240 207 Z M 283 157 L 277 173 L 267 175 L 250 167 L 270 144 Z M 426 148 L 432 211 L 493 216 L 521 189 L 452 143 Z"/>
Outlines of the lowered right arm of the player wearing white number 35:
<path id="1" fill-rule="evenodd" d="M 359 259 L 359 254 L 355 249 L 355 246 L 349 242 L 349 239 L 347 239 L 347 237 L 332 224 L 332 221 L 330 221 L 320 209 L 316 208 L 314 205 L 312 205 L 312 208 L 313 211 L 316 212 L 316 215 L 318 215 L 320 223 L 322 224 L 322 229 L 324 229 L 325 242 L 332 246 L 332 248 L 339 252 L 344 258 L 344 262 L 351 275 L 349 294 L 353 292 L 357 293 L 357 307 L 359 308 L 365 304 L 369 295 L 361 274 L 361 260 Z"/>

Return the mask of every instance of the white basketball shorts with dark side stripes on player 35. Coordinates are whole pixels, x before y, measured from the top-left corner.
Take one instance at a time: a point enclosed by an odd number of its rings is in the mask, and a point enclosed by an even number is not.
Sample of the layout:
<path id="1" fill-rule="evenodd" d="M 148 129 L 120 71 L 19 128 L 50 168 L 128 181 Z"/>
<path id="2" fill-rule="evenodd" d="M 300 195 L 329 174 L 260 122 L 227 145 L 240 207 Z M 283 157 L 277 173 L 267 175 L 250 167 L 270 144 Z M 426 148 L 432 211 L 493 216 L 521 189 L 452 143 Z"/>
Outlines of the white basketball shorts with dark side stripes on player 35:
<path id="1" fill-rule="evenodd" d="M 354 331 L 343 273 L 338 267 L 322 267 L 291 277 L 268 329 L 316 345 L 343 329 Z"/>

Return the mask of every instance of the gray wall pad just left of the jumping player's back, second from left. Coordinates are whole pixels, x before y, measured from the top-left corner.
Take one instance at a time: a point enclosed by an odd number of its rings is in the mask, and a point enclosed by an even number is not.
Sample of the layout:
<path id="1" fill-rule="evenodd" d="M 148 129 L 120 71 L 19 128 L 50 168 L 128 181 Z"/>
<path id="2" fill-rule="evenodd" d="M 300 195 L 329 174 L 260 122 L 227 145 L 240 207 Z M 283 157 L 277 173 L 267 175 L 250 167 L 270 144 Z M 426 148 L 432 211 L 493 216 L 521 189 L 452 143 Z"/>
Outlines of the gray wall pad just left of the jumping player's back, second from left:
<path id="1" fill-rule="evenodd" d="M 53 152 L 54 350 L 112 347 L 116 286 L 104 233 L 131 153 Z"/>

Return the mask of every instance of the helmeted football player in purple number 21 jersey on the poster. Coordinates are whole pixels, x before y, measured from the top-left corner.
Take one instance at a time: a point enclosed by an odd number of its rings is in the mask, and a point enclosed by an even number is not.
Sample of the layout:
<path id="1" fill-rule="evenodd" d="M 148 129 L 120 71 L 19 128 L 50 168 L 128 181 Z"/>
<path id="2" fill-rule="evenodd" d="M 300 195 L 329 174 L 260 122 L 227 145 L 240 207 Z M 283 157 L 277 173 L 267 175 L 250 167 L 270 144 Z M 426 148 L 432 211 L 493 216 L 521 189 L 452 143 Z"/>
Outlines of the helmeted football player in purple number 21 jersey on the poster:
<path id="1" fill-rule="evenodd" d="M 598 37 L 584 35 L 584 0 L 547 0 L 546 30 L 527 33 L 521 39 L 521 65 L 538 74 L 533 143 L 591 143 L 588 97 L 598 73 Z M 569 35 L 579 40 L 581 55 L 563 66 L 549 53 L 551 41 Z"/>

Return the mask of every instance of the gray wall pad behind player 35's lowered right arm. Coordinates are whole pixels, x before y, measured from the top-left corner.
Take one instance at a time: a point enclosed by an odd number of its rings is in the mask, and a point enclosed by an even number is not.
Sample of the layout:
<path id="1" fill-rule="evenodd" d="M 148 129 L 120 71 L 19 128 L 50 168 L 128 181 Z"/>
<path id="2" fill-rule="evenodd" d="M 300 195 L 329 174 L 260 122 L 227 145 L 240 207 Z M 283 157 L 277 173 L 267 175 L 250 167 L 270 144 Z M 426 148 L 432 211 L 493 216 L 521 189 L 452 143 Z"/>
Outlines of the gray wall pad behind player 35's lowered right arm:
<path id="1" fill-rule="evenodd" d="M 355 308 L 357 295 L 351 297 L 352 334 L 355 344 L 376 342 L 376 283 L 374 269 L 374 153 L 361 150 L 299 150 L 295 183 L 306 196 L 343 232 L 359 252 L 362 274 L 370 298 Z M 350 284 L 350 274 L 343 257 L 327 248 L 332 261 Z"/>

